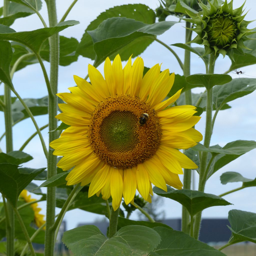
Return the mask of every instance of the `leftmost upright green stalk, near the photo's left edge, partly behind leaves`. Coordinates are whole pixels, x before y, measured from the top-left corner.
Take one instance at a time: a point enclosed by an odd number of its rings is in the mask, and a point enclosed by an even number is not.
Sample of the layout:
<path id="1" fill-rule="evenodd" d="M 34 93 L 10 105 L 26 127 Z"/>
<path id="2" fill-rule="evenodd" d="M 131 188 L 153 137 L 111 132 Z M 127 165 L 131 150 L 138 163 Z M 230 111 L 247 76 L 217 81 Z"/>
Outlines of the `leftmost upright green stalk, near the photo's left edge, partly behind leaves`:
<path id="1" fill-rule="evenodd" d="M 9 1 L 4 1 L 3 14 L 8 16 Z M 12 130 L 12 98 L 10 88 L 4 85 L 4 120 L 5 120 L 5 138 L 6 138 L 6 153 L 13 151 L 13 130 Z M 6 222 L 6 251 L 7 256 L 14 255 L 14 211 L 9 202 L 6 203 L 5 215 L 8 215 L 9 221 Z"/>

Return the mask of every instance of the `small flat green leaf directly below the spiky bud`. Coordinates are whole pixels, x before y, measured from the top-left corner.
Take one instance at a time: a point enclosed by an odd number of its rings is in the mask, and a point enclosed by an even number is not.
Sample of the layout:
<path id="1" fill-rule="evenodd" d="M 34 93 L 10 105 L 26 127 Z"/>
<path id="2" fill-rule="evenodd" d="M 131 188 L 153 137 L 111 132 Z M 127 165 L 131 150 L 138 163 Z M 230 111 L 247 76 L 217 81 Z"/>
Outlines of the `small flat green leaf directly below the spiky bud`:
<path id="1" fill-rule="evenodd" d="M 232 80 L 232 77 L 226 74 L 195 74 L 186 77 L 188 83 L 205 87 L 207 90 L 215 85 L 222 85 Z"/>

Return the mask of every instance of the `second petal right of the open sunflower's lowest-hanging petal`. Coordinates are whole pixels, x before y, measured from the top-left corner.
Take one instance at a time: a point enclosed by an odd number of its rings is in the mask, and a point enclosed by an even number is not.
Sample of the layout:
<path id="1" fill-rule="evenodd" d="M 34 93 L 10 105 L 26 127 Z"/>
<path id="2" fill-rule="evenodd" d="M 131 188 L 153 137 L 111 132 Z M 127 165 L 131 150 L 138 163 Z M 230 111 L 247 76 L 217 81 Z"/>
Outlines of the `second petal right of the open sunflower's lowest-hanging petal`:
<path id="1" fill-rule="evenodd" d="M 143 164 L 137 166 L 136 179 L 141 196 L 147 200 L 149 194 L 149 178 L 147 170 Z"/>

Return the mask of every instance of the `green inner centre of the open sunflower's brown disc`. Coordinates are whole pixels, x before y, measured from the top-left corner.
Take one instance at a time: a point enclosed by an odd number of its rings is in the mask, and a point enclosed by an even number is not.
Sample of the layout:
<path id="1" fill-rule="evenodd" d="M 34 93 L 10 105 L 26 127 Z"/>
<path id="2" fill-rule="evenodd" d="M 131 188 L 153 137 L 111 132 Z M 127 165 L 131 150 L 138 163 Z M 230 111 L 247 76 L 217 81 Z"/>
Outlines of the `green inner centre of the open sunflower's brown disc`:
<path id="1" fill-rule="evenodd" d="M 139 142 L 138 118 L 131 111 L 113 111 L 100 125 L 100 137 L 110 152 L 127 152 Z"/>

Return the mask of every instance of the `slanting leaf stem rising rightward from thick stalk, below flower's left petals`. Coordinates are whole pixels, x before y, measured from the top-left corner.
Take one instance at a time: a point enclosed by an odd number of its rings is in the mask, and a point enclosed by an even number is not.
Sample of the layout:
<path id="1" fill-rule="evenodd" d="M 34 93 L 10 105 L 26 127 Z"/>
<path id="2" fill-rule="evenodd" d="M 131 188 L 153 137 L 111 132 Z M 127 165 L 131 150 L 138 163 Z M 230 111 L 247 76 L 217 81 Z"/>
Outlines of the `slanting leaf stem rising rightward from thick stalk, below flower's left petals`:
<path id="1" fill-rule="evenodd" d="M 83 187 L 80 187 L 80 183 L 77 184 L 71 191 L 71 193 L 69 194 L 66 202 L 64 203 L 64 205 L 62 206 L 61 210 L 60 210 L 60 213 L 58 215 L 58 218 L 56 219 L 54 225 L 52 226 L 52 230 L 54 230 L 55 232 L 55 238 L 54 238 L 54 241 L 56 241 L 56 238 L 57 238 L 57 234 L 58 234 L 58 231 L 59 231 L 59 228 L 60 228 L 60 225 L 61 225 L 61 222 L 70 206 L 70 204 L 73 202 L 74 198 L 77 196 L 77 194 L 79 193 L 79 191 L 83 188 Z"/>

